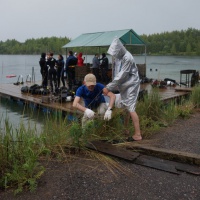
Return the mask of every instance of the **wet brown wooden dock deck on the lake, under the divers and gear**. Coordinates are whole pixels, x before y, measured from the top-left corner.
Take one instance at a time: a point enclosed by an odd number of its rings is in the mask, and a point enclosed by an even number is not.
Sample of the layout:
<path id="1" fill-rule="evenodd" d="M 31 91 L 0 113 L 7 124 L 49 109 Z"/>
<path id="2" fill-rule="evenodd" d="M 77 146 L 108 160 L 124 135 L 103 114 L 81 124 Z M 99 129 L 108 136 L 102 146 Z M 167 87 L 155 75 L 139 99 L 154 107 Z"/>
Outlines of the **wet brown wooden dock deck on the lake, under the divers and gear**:
<path id="1" fill-rule="evenodd" d="M 51 101 L 50 103 L 42 102 L 42 95 L 32 95 L 30 93 L 22 93 L 21 88 L 23 86 L 31 86 L 33 83 L 25 83 L 23 85 L 14 84 L 1 84 L 0 85 L 0 96 L 6 98 L 12 98 L 17 101 L 22 101 L 24 103 L 32 103 L 38 107 L 45 107 L 52 110 L 59 110 L 64 112 L 74 113 L 77 112 L 72 107 L 72 102 L 59 102 Z M 145 89 L 150 92 L 152 86 L 150 84 L 141 84 L 141 89 Z M 166 89 L 159 89 L 161 99 L 163 101 L 168 101 L 171 99 L 176 99 L 187 95 L 191 89 L 182 87 L 181 90 L 176 90 L 175 87 L 167 87 Z M 83 102 L 82 102 L 83 103 Z M 79 113 L 79 112 L 78 112 Z"/>

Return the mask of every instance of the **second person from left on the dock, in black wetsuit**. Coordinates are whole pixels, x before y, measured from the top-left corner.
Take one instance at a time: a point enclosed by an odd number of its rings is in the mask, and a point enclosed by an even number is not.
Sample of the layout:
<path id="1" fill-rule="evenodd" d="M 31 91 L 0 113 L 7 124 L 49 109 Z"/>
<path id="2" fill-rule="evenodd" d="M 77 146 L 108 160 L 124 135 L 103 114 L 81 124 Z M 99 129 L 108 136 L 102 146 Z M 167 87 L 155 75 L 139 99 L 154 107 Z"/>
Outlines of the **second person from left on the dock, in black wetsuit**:
<path id="1" fill-rule="evenodd" d="M 56 59 L 53 57 L 53 53 L 48 54 L 47 67 L 48 67 L 48 80 L 51 87 L 51 92 L 53 92 L 57 89 Z M 53 82 L 55 88 L 53 88 Z"/>

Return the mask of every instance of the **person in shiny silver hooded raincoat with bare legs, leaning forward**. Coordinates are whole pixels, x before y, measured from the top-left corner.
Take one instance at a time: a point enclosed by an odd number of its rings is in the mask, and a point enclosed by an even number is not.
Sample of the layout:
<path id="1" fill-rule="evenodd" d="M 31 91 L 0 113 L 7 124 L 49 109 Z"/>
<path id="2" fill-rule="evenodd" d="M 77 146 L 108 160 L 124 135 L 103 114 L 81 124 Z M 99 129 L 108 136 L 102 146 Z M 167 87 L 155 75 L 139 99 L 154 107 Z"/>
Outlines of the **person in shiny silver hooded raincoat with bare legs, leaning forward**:
<path id="1" fill-rule="evenodd" d="M 108 54 L 120 60 L 121 66 L 120 69 L 117 69 L 118 73 L 115 75 L 113 81 L 110 82 L 106 88 L 108 91 L 115 91 L 118 89 L 121 98 L 118 97 L 118 101 L 121 100 L 121 104 L 130 112 L 135 133 L 132 137 L 128 138 L 128 141 L 142 140 L 139 117 L 135 111 L 140 90 L 140 79 L 135 60 L 118 38 L 115 38 L 111 43 Z"/>

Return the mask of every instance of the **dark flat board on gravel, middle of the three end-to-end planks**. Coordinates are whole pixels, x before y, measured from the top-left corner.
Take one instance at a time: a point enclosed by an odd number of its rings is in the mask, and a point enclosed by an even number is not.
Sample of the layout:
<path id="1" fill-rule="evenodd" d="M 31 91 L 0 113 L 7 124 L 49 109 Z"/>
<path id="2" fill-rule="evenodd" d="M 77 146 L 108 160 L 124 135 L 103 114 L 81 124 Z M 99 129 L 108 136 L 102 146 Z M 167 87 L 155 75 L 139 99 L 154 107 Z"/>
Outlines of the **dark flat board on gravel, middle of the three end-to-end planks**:
<path id="1" fill-rule="evenodd" d="M 151 156 L 139 156 L 135 162 L 135 164 L 138 165 L 142 165 L 142 166 L 146 166 L 146 167 L 151 167 L 153 169 L 158 169 L 161 171 L 165 171 L 165 172 L 170 172 L 173 174 L 180 174 L 174 165 L 172 165 L 170 162 L 167 163 L 166 161 L 163 162 L 162 159 L 155 159 Z"/>

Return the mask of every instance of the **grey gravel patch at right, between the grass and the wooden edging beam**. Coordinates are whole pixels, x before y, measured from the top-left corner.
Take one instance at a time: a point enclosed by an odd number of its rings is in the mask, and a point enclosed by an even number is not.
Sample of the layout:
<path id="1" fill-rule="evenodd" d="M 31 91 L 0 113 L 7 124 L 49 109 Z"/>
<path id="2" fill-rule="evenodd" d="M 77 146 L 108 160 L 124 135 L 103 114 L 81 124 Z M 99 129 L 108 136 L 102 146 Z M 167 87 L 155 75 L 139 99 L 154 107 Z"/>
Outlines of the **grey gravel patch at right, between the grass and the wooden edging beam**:
<path id="1" fill-rule="evenodd" d="M 144 142 L 147 142 L 144 140 Z M 148 140 L 155 147 L 200 154 L 200 112 L 189 119 L 179 119 Z"/>

